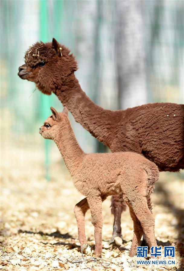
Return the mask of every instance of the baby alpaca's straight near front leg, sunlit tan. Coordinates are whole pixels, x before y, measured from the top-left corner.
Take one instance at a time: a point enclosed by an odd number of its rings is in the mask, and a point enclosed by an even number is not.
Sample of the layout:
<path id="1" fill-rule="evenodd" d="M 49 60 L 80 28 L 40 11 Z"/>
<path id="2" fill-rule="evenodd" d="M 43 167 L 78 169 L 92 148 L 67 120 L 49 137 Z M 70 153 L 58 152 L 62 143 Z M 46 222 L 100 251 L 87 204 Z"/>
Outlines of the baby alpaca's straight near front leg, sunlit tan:
<path id="1" fill-rule="evenodd" d="M 88 197 L 88 204 L 91 210 L 92 224 L 95 227 L 95 251 L 98 257 L 102 254 L 102 198 L 100 196 Z"/>

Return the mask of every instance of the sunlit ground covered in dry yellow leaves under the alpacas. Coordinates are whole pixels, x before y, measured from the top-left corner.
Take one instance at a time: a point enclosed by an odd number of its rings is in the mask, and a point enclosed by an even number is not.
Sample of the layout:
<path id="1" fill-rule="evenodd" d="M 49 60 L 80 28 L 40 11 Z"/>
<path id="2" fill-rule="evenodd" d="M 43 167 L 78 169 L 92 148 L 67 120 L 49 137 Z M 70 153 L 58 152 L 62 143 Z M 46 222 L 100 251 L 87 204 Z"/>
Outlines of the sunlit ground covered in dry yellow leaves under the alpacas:
<path id="1" fill-rule="evenodd" d="M 39 144 L 1 147 L 1 236 L 2 270 L 183 270 L 183 172 L 161 173 L 152 195 L 155 236 L 158 245 L 176 247 L 172 266 L 137 266 L 129 257 L 133 223 L 128 208 L 122 215 L 123 244 L 108 245 L 113 216 L 110 197 L 103 203 L 102 259 L 89 259 L 94 251 L 94 228 L 86 214 L 89 247 L 82 261 L 73 208 L 83 198 L 55 145 L 51 146 L 51 180 L 44 178 L 44 152 Z M 149 256 L 149 255 L 148 255 Z M 148 257 L 149 258 L 149 257 Z M 164 259 L 159 257 L 159 259 Z M 168 259 L 167 259 L 168 260 Z"/>

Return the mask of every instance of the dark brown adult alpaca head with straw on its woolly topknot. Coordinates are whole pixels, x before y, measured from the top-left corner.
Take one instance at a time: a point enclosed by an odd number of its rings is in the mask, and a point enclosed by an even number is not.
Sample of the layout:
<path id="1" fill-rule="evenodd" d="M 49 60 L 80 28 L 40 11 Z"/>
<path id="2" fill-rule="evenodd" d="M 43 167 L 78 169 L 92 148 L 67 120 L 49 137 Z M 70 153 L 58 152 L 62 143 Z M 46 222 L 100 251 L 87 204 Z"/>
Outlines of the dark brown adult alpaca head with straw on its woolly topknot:
<path id="1" fill-rule="evenodd" d="M 41 92 L 50 95 L 76 70 L 73 54 L 53 38 L 52 43 L 37 42 L 27 50 L 25 64 L 19 67 L 18 75 L 34 82 Z"/>

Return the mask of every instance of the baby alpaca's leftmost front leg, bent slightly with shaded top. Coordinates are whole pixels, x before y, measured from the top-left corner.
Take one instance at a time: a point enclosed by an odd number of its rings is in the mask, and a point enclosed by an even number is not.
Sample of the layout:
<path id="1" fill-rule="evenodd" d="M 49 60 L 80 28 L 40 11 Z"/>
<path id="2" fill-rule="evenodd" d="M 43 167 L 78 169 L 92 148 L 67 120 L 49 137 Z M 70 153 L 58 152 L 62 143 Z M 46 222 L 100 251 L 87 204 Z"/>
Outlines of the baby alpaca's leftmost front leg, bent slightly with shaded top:
<path id="1" fill-rule="evenodd" d="M 87 247 L 84 217 L 88 209 L 89 205 L 87 198 L 79 201 L 79 203 L 77 203 L 76 206 L 74 207 L 74 213 L 78 227 L 79 242 L 81 244 L 82 250 Z"/>

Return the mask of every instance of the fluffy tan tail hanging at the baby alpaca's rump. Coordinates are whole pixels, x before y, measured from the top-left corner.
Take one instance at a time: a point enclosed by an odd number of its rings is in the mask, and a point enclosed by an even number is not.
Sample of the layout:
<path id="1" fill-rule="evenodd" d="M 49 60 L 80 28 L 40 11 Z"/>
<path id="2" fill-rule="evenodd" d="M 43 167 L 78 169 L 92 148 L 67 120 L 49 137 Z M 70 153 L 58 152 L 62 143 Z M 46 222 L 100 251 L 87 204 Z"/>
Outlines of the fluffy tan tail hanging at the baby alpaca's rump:
<path id="1" fill-rule="evenodd" d="M 157 165 L 151 161 L 144 164 L 144 170 L 147 173 L 147 194 L 152 194 L 155 182 L 159 179 L 159 170 Z"/>

